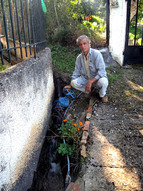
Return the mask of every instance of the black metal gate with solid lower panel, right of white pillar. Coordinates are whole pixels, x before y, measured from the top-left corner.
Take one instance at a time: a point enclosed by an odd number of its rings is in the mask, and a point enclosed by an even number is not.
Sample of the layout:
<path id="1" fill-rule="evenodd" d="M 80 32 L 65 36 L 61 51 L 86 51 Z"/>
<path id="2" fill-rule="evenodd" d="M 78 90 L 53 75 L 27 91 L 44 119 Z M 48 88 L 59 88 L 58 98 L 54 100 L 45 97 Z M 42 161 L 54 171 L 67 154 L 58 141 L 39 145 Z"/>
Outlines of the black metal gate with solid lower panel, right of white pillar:
<path id="1" fill-rule="evenodd" d="M 127 0 L 124 64 L 143 64 L 143 0 Z"/>

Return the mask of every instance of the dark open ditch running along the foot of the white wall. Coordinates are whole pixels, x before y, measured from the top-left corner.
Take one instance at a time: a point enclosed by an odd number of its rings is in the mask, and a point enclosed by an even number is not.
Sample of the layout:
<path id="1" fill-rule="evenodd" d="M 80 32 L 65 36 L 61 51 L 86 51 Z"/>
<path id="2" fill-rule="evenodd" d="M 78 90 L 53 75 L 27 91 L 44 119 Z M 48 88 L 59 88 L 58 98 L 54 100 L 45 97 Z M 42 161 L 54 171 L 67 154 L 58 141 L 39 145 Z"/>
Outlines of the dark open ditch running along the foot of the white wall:
<path id="1" fill-rule="evenodd" d="M 58 98 L 65 96 L 62 92 L 64 86 L 61 78 L 56 79 L 55 87 L 50 129 L 45 137 L 38 166 L 34 172 L 32 186 L 27 191 L 64 191 L 71 181 L 74 182 L 77 179 L 78 172 L 81 169 L 80 151 L 76 152 L 72 157 L 61 156 L 57 152 L 58 142 L 60 141 L 60 138 L 57 137 L 57 129 L 62 124 L 65 113 L 66 116 L 74 117 L 77 103 L 72 105 L 72 100 L 70 100 L 72 107 L 70 105 L 66 109 L 55 107 Z M 68 111 L 73 111 L 73 113 Z"/>

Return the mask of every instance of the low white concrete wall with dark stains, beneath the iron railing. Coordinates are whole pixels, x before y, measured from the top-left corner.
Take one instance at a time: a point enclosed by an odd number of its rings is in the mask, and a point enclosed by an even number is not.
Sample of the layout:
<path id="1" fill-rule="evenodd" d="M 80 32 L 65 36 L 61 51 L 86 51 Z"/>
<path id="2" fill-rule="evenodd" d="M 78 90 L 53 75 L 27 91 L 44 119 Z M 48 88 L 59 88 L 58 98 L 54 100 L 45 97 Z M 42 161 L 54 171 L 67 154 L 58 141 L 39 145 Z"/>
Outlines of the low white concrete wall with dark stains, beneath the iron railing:
<path id="1" fill-rule="evenodd" d="M 0 73 L 0 190 L 26 191 L 32 183 L 50 119 L 54 92 L 46 48 Z"/>

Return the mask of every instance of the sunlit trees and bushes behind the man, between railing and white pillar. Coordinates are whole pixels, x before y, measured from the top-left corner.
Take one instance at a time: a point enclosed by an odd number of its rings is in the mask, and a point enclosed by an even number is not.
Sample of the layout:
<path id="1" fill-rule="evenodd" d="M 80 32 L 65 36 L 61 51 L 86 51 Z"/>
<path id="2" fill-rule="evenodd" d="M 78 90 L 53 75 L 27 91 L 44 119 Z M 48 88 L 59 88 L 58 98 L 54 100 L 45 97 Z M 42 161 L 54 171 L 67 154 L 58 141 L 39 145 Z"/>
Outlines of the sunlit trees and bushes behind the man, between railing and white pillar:
<path id="1" fill-rule="evenodd" d="M 47 7 L 49 43 L 73 45 L 82 34 L 88 35 L 95 43 L 105 32 L 105 0 L 48 0 Z"/>

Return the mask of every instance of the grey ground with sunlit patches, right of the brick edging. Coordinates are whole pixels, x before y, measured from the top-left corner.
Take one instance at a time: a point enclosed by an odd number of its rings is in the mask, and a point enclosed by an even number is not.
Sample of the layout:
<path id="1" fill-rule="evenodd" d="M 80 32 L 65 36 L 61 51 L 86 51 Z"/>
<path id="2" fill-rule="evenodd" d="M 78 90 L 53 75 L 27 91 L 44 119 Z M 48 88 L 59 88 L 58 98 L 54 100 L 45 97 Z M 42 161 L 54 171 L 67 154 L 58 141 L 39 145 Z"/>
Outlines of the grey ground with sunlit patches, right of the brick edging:
<path id="1" fill-rule="evenodd" d="M 143 191 L 143 65 L 114 65 L 108 72 L 120 76 L 109 84 L 108 103 L 95 96 L 88 162 L 83 163 L 76 183 L 82 191 Z M 81 95 L 69 115 L 80 118 L 88 104 Z"/>

